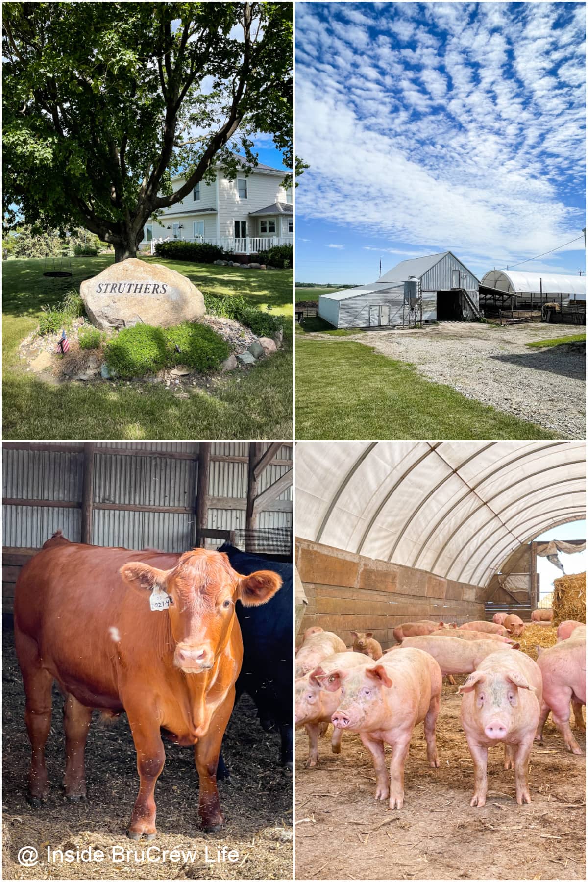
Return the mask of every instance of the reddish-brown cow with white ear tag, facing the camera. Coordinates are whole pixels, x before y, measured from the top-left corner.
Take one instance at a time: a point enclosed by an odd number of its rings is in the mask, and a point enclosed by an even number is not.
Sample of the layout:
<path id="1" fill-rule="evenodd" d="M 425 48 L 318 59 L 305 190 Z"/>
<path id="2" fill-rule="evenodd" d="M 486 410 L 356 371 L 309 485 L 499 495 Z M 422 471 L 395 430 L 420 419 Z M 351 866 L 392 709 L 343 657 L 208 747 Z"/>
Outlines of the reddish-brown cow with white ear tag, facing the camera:
<path id="1" fill-rule="evenodd" d="M 66 693 L 68 798 L 86 797 L 93 707 L 110 716 L 125 711 L 140 778 L 130 838 L 156 833 L 153 793 L 166 756 L 161 730 L 176 744 L 194 744 L 202 826 L 219 830 L 216 770 L 243 654 L 234 604 L 257 606 L 280 585 L 275 572 L 241 576 L 218 551 L 129 551 L 62 537 L 46 543 L 23 567 L 14 596 L 33 804 L 48 796 L 45 743 L 56 680 Z"/>

